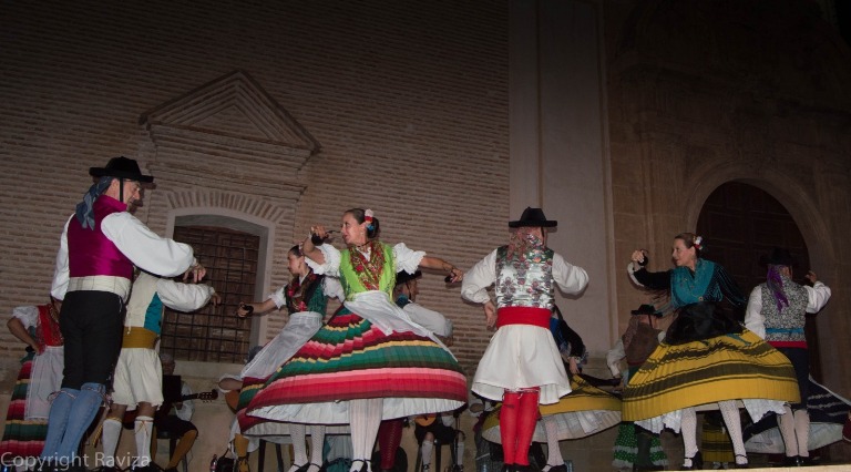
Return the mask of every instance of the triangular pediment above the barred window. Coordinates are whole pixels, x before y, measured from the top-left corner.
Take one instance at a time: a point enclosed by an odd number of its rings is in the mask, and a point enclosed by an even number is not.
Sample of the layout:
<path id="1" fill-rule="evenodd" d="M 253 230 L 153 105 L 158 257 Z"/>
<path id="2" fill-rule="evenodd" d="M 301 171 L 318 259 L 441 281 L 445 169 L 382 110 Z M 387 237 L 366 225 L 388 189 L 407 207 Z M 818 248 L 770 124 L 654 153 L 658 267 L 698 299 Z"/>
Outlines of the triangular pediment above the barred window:
<path id="1" fill-rule="evenodd" d="M 312 154 L 319 144 L 245 71 L 234 71 L 142 114 L 156 135 L 229 143 L 239 147 L 286 147 Z M 236 141 L 245 141 L 239 143 Z M 249 144 L 254 142 L 254 144 Z"/>

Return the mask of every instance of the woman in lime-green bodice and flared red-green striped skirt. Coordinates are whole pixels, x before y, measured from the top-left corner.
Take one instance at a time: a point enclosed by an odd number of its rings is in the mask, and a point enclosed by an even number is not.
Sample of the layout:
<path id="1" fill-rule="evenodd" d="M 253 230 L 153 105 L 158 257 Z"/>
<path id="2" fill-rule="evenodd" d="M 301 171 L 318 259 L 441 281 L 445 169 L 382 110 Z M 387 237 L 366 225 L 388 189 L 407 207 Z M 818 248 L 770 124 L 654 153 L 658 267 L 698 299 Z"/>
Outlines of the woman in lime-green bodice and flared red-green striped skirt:
<path id="1" fill-rule="evenodd" d="M 328 232 L 311 228 L 320 238 Z M 351 425 L 351 470 L 370 470 L 381 420 L 454 410 L 466 401 L 466 378 L 452 353 L 410 321 L 391 299 L 396 273 L 418 267 L 463 278 L 453 265 L 378 240 L 371 211 L 342 215 L 342 252 L 303 246 L 317 274 L 339 277 L 345 308 L 287 360 L 248 403 L 249 415 L 276 421 Z"/>

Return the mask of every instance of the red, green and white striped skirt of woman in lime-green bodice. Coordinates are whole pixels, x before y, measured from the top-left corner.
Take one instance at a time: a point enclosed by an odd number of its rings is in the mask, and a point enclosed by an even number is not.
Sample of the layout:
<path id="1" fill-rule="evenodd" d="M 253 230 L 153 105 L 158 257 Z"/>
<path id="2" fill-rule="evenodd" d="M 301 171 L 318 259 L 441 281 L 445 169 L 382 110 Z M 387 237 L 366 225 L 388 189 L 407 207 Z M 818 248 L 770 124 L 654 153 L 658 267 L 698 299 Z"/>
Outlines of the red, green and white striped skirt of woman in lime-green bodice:
<path id="1" fill-rule="evenodd" d="M 359 294 L 345 305 L 256 392 L 248 415 L 347 424 L 349 400 L 383 399 L 382 420 L 451 411 L 466 402 L 458 360 L 386 294 Z"/>

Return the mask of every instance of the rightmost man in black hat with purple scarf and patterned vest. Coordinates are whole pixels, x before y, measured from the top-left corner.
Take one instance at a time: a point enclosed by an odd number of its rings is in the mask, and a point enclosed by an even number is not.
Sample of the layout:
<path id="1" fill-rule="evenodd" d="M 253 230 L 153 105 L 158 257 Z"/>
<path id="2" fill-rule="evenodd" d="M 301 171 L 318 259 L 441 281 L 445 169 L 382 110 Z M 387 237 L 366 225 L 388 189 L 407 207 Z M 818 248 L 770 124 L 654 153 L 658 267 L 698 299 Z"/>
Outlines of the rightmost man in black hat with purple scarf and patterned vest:
<path id="1" fill-rule="evenodd" d="M 819 312 L 828 302 L 830 288 L 819 281 L 812 270 L 804 276 L 812 287 L 793 281 L 794 259 L 787 249 L 773 248 L 770 255 L 760 258 L 760 264 L 768 268 L 766 281 L 750 293 L 745 326 L 792 362 L 801 402 L 787 403 L 786 413 L 778 415 L 777 421 L 786 444 L 786 465 L 812 465 L 807 413 L 810 359 L 803 325 L 806 314 Z"/>

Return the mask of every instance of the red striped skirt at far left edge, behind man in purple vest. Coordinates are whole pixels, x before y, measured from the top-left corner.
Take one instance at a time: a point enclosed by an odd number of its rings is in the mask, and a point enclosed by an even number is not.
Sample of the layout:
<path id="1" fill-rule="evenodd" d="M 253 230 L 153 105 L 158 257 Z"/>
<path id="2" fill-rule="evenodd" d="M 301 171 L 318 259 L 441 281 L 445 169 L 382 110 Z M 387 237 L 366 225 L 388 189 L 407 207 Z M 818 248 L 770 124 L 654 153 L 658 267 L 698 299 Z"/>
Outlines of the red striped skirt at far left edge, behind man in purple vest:
<path id="1" fill-rule="evenodd" d="M 32 358 L 33 355 L 30 353 L 23 360 L 18 380 L 14 383 L 14 390 L 12 390 L 9 410 L 6 414 L 6 428 L 3 429 L 3 439 L 0 442 L 0 456 L 7 460 L 12 460 L 13 458 L 37 458 L 41 454 L 41 450 L 44 449 L 48 422 L 42 420 L 24 420 Z"/>

